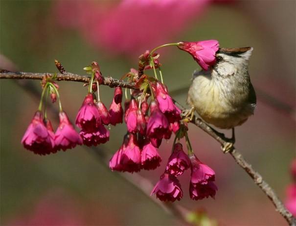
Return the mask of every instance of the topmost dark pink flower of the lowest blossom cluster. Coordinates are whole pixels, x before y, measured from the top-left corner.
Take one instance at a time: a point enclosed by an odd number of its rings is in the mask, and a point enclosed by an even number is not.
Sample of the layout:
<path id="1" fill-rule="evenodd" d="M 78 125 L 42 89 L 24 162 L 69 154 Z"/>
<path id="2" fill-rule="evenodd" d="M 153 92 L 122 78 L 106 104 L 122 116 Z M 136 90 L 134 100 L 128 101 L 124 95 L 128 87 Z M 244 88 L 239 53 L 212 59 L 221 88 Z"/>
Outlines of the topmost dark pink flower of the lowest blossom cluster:
<path id="1" fill-rule="evenodd" d="M 171 175 L 180 176 L 190 167 L 190 160 L 184 153 L 181 143 L 176 143 L 173 153 L 168 159 L 165 170 Z"/>

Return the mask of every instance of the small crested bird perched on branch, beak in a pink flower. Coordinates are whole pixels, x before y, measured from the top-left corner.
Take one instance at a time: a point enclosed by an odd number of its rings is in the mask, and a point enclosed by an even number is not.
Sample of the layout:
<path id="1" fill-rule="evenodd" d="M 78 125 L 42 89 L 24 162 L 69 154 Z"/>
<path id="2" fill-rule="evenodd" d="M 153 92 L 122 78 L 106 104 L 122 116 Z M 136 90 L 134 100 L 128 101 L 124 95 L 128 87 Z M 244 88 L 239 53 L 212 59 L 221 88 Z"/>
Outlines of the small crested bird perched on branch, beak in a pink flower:
<path id="1" fill-rule="evenodd" d="M 243 124 L 256 107 L 256 94 L 248 64 L 253 48 L 219 48 L 216 62 L 208 70 L 195 71 L 187 103 L 201 118 L 221 129 L 232 129 L 229 145 L 235 142 L 234 127 Z"/>

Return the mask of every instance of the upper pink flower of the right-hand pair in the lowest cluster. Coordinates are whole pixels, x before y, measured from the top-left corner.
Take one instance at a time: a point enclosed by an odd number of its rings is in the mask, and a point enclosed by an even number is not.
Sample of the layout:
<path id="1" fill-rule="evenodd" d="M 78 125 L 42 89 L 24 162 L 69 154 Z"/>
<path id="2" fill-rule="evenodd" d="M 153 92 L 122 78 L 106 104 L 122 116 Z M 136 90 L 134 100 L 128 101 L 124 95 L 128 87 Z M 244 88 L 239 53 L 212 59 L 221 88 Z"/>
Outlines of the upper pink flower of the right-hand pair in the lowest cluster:
<path id="1" fill-rule="evenodd" d="M 189 156 L 191 161 L 191 183 L 206 184 L 215 181 L 215 172 L 209 166 L 202 163 L 194 154 Z"/>

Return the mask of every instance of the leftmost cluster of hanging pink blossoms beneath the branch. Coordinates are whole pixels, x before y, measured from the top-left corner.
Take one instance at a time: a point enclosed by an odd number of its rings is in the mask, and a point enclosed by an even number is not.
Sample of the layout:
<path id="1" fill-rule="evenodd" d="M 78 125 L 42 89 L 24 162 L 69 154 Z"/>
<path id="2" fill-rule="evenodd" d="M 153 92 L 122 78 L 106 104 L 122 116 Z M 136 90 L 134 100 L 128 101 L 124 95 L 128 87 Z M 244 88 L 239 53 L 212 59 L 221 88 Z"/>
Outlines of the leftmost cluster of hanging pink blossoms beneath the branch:
<path id="1" fill-rule="evenodd" d="M 46 155 L 81 145 L 82 139 L 67 114 L 60 112 L 59 117 L 60 124 L 54 133 L 49 119 L 44 119 L 43 113 L 37 111 L 23 136 L 23 146 L 35 154 Z"/>

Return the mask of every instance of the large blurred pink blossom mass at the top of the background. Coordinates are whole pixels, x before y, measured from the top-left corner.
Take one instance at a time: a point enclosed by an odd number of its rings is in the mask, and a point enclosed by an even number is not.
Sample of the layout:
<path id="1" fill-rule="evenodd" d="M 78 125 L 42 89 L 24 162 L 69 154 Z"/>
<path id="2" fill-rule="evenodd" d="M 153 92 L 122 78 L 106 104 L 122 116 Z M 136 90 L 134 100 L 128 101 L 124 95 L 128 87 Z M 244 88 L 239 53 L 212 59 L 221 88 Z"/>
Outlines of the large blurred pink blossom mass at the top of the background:
<path id="1" fill-rule="evenodd" d="M 210 0 L 54 1 L 57 23 L 74 28 L 96 47 L 139 55 L 171 42 L 196 22 Z M 175 40 L 176 41 L 176 40 Z"/>

